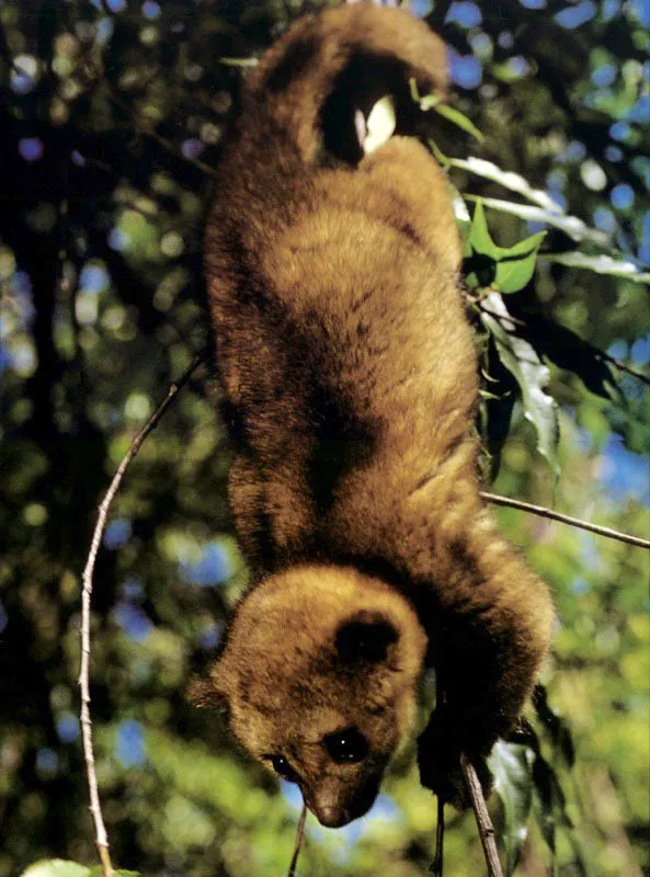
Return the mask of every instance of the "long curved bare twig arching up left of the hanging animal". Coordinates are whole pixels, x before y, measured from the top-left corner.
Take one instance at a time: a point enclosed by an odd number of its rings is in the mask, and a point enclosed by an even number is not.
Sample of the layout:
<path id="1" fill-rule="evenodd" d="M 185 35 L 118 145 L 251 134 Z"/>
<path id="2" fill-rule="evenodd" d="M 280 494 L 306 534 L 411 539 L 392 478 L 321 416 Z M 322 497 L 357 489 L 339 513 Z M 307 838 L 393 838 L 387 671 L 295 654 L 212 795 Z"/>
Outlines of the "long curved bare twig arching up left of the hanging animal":
<path id="1" fill-rule="evenodd" d="M 179 390 L 185 386 L 192 374 L 204 361 L 205 352 L 195 357 L 195 360 L 185 369 L 181 378 L 175 381 L 175 384 L 170 385 L 163 401 L 158 406 L 145 426 L 142 426 L 142 429 L 133 440 L 130 447 L 117 467 L 117 471 L 113 476 L 113 480 L 111 481 L 109 490 L 106 491 L 106 496 L 102 500 L 102 504 L 99 508 L 98 522 L 92 534 L 88 560 L 85 561 L 85 568 L 83 570 L 83 589 L 81 592 L 81 667 L 79 670 L 79 687 L 81 688 L 81 733 L 83 741 L 83 758 L 85 760 L 85 772 L 88 774 L 88 786 L 90 790 L 90 812 L 95 828 L 95 844 L 100 854 L 102 867 L 104 869 L 104 877 L 113 877 L 114 872 L 113 865 L 111 864 L 111 856 L 109 854 L 109 838 L 100 805 L 98 778 L 94 767 L 94 754 L 92 748 L 92 720 L 90 717 L 90 600 L 92 595 L 92 576 L 102 537 L 106 528 L 109 510 L 113 499 L 115 498 L 115 494 L 117 493 L 117 490 L 119 489 L 119 485 L 122 483 L 122 479 L 127 466 L 142 446 L 145 438 L 158 425 L 160 418 L 170 407 Z"/>

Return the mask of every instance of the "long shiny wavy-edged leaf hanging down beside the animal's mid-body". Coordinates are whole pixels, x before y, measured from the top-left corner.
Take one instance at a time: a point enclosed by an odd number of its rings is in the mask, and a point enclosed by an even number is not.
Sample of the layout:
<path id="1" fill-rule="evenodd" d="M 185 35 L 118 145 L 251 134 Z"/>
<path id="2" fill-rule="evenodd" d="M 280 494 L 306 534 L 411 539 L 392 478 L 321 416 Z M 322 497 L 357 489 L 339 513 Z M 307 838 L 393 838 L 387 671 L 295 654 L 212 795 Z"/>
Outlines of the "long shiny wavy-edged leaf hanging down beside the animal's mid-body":
<path id="1" fill-rule="evenodd" d="M 534 348 L 514 334 L 514 324 L 503 298 L 498 293 L 491 293 L 484 305 L 491 312 L 481 310 L 481 320 L 494 338 L 499 358 L 520 386 L 524 415 L 537 432 L 537 449 L 546 457 L 552 471 L 559 475 L 558 410 L 555 399 L 544 390 L 548 383 L 548 368 L 540 362 Z"/>

